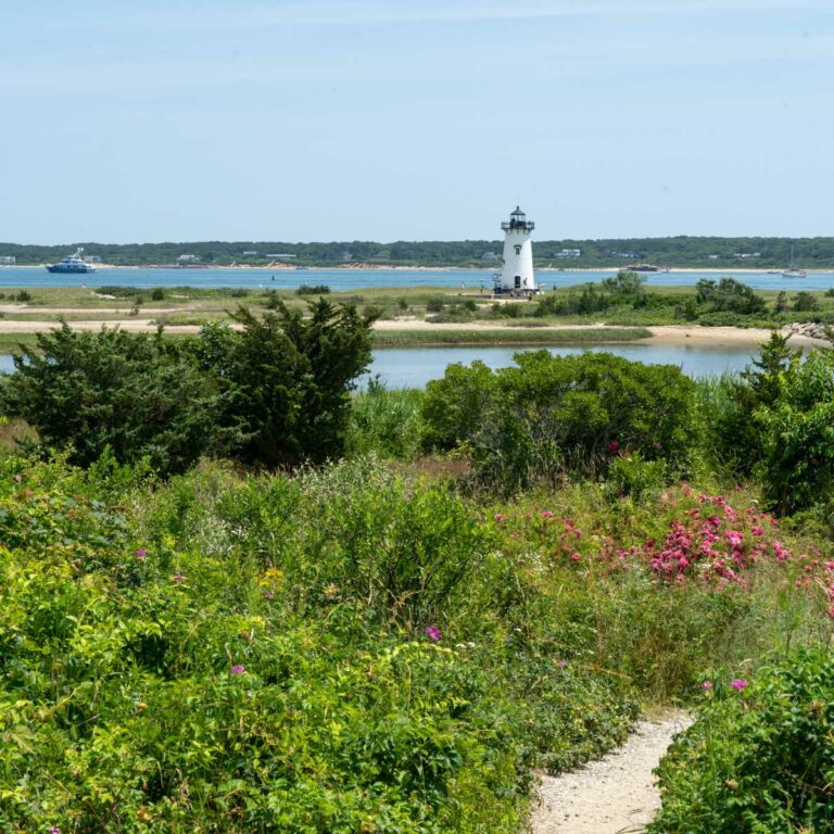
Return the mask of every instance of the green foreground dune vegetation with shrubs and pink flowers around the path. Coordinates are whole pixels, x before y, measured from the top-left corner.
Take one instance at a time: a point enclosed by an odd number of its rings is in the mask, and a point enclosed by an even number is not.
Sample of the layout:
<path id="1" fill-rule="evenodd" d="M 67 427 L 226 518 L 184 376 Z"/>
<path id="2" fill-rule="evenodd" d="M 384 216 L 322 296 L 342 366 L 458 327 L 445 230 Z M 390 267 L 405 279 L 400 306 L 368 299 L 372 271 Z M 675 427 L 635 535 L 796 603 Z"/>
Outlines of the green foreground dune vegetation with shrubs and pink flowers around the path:
<path id="1" fill-rule="evenodd" d="M 372 317 L 237 316 L 2 382 L 0 829 L 509 834 L 683 705 L 653 831 L 832 830 L 834 351 L 352 392 Z"/>

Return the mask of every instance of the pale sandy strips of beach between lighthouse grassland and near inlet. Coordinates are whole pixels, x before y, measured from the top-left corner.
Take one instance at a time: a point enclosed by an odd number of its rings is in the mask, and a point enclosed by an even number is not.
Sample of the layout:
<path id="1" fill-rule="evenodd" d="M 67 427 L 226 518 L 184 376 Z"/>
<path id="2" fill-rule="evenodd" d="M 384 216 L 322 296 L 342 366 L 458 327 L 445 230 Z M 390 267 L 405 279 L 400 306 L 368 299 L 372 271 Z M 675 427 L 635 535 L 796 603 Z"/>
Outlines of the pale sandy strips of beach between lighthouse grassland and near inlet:
<path id="1" fill-rule="evenodd" d="M 17 308 L 18 312 L 26 312 L 26 308 Z M 1 311 L 0 311 L 1 312 Z M 41 312 L 41 311 L 38 311 Z M 45 312 L 45 311 L 43 311 Z M 68 307 L 62 311 L 50 311 L 55 314 L 60 312 L 81 312 L 71 311 Z M 96 311 L 98 313 L 104 311 Z M 142 311 L 143 314 L 151 313 L 151 309 Z M 155 312 L 155 311 L 153 311 Z M 178 312 L 182 312 L 181 309 Z M 159 314 L 163 314 L 164 311 L 160 309 Z M 38 333 L 45 330 L 50 330 L 58 326 L 55 320 L 26 320 L 16 321 L 13 319 L 0 318 L 0 333 Z M 76 330 L 99 330 L 102 325 L 108 327 L 118 326 L 123 330 L 129 330 L 132 332 L 149 332 L 156 329 L 156 323 L 152 318 L 114 318 L 102 321 L 101 319 L 78 320 L 68 323 L 71 327 Z M 233 325 L 232 325 L 233 326 Z M 384 321 L 376 321 L 374 325 L 375 330 L 396 330 L 401 332 L 407 332 L 409 330 L 418 331 L 434 331 L 438 334 L 442 334 L 443 331 L 456 331 L 456 332 L 478 332 L 483 330 L 497 331 L 503 330 L 507 336 L 511 336 L 514 332 L 535 332 L 546 333 L 548 331 L 570 331 L 570 330 L 587 330 L 589 328 L 605 329 L 604 324 L 589 324 L 589 325 L 551 325 L 547 327 L 506 327 L 492 321 L 466 321 L 458 324 L 445 324 L 434 325 L 430 321 L 424 321 L 421 319 L 390 319 Z M 175 333 L 195 333 L 199 332 L 200 327 L 198 325 L 167 325 L 168 332 Z M 617 328 L 622 329 L 622 328 Z M 743 328 L 743 327 L 699 327 L 697 325 L 664 325 L 664 326 L 649 326 L 645 328 L 652 336 L 647 339 L 640 339 L 632 343 L 640 344 L 669 344 L 669 345 L 698 345 L 700 348 L 722 348 L 722 346 L 742 346 L 749 345 L 755 348 L 762 342 L 766 342 L 770 338 L 770 330 L 766 328 Z M 783 332 L 788 332 L 788 329 L 784 328 Z M 813 344 L 826 344 L 826 342 L 820 339 L 811 339 L 807 336 L 796 334 L 791 340 L 791 343 L 798 346 L 810 346 Z M 489 345 L 484 345 L 489 346 Z"/>

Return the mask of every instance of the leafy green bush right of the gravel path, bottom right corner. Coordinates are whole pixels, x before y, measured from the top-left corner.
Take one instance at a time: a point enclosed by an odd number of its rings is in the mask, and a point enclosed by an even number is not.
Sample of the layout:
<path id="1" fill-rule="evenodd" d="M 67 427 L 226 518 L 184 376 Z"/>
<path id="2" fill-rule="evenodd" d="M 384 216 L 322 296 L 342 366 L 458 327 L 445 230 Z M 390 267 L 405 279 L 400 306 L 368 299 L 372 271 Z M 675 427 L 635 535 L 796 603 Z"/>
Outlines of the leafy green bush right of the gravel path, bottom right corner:
<path id="1" fill-rule="evenodd" d="M 806 650 L 750 681 L 709 681 L 658 773 L 655 834 L 834 831 L 834 655 Z"/>

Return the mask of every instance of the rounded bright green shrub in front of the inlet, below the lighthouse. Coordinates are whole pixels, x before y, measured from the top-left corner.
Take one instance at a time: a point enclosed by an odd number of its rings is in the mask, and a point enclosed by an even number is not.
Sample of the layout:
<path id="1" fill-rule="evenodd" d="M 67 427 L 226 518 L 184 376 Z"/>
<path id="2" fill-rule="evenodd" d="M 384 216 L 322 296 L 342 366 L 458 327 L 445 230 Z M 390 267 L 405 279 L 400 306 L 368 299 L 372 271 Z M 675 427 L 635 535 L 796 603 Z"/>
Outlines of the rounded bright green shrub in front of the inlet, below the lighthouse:
<path id="1" fill-rule="evenodd" d="M 678 368 L 609 354 L 516 355 L 495 374 L 451 366 L 424 401 L 426 442 L 471 450 L 476 479 L 511 491 L 605 471 L 617 453 L 685 467 L 695 438 L 694 384 Z"/>

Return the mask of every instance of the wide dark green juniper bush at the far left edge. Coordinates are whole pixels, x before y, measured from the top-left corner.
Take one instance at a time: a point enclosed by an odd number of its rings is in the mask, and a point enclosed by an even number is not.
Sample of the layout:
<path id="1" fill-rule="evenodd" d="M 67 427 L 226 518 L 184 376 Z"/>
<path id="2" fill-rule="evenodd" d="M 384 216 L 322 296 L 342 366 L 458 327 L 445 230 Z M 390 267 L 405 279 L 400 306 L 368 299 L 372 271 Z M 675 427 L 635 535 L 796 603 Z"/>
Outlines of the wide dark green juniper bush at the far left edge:
<path id="1" fill-rule="evenodd" d="M 3 408 L 35 427 L 43 443 L 80 465 L 105 450 L 122 463 L 148 458 L 161 473 L 182 471 L 212 448 L 222 402 L 174 342 L 63 324 L 14 357 Z"/>

